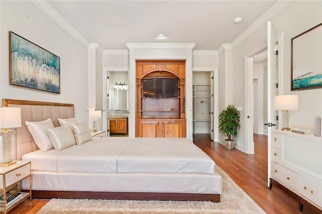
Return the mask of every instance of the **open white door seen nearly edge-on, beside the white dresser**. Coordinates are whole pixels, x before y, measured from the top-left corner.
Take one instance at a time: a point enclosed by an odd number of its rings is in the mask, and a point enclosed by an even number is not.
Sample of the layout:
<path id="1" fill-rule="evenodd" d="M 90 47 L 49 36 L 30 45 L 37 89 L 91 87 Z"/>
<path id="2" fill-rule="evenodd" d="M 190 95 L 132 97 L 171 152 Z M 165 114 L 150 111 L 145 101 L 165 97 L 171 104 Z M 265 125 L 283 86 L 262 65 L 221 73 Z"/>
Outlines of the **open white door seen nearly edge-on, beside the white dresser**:
<path id="1" fill-rule="evenodd" d="M 273 132 L 276 128 L 276 111 L 273 108 L 273 100 L 276 95 L 276 58 L 275 58 L 276 40 L 272 29 L 271 21 L 267 23 L 267 143 L 268 143 L 268 186 L 270 186 L 271 177 L 271 145 Z"/>

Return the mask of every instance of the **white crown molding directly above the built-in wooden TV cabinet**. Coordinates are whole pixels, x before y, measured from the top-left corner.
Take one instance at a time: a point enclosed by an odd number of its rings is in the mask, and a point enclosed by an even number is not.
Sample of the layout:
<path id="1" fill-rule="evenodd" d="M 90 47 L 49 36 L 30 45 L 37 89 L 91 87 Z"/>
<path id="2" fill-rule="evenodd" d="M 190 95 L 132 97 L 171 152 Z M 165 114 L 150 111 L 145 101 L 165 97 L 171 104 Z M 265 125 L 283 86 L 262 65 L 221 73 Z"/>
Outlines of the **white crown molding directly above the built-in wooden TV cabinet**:
<path id="1" fill-rule="evenodd" d="M 125 46 L 130 49 L 188 49 L 195 48 L 195 43 L 126 43 Z"/>

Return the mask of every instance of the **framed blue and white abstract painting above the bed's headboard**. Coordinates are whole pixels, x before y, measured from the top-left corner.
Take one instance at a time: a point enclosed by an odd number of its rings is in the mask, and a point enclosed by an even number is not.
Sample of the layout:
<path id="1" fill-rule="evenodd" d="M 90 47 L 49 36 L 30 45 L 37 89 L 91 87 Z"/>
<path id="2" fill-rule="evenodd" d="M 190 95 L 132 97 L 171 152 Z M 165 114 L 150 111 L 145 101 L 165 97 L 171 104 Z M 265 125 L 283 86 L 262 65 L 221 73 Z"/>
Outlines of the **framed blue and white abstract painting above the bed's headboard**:
<path id="1" fill-rule="evenodd" d="M 60 94 L 60 57 L 9 31 L 9 84 Z"/>

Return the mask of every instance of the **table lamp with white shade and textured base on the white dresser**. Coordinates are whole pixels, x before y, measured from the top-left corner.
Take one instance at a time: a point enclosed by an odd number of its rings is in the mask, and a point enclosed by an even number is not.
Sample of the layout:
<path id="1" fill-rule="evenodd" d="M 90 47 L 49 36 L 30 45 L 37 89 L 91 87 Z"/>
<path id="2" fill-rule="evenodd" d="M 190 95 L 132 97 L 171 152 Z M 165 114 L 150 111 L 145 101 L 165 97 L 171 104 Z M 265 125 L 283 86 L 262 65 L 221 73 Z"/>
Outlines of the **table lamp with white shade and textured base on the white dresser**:
<path id="1" fill-rule="evenodd" d="M 282 110 L 282 123 L 283 131 L 290 131 L 291 129 L 288 126 L 289 122 L 289 110 L 297 110 L 298 109 L 298 95 L 295 94 L 284 94 L 277 95 L 274 97 L 274 109 Z"/>

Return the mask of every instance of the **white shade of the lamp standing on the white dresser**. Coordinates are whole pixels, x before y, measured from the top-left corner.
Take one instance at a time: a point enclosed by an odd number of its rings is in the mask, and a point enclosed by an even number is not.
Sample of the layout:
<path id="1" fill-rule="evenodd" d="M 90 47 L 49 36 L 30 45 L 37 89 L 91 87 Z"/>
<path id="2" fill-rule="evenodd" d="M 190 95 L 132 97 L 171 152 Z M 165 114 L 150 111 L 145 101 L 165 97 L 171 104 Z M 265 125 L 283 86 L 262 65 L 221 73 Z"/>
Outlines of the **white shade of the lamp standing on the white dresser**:
<path id="1" fill-rule="evenodd" d="M 284 94 L 274 97 L 275 110 L 297 110 L 298 109 L 298 95 Z"/>

